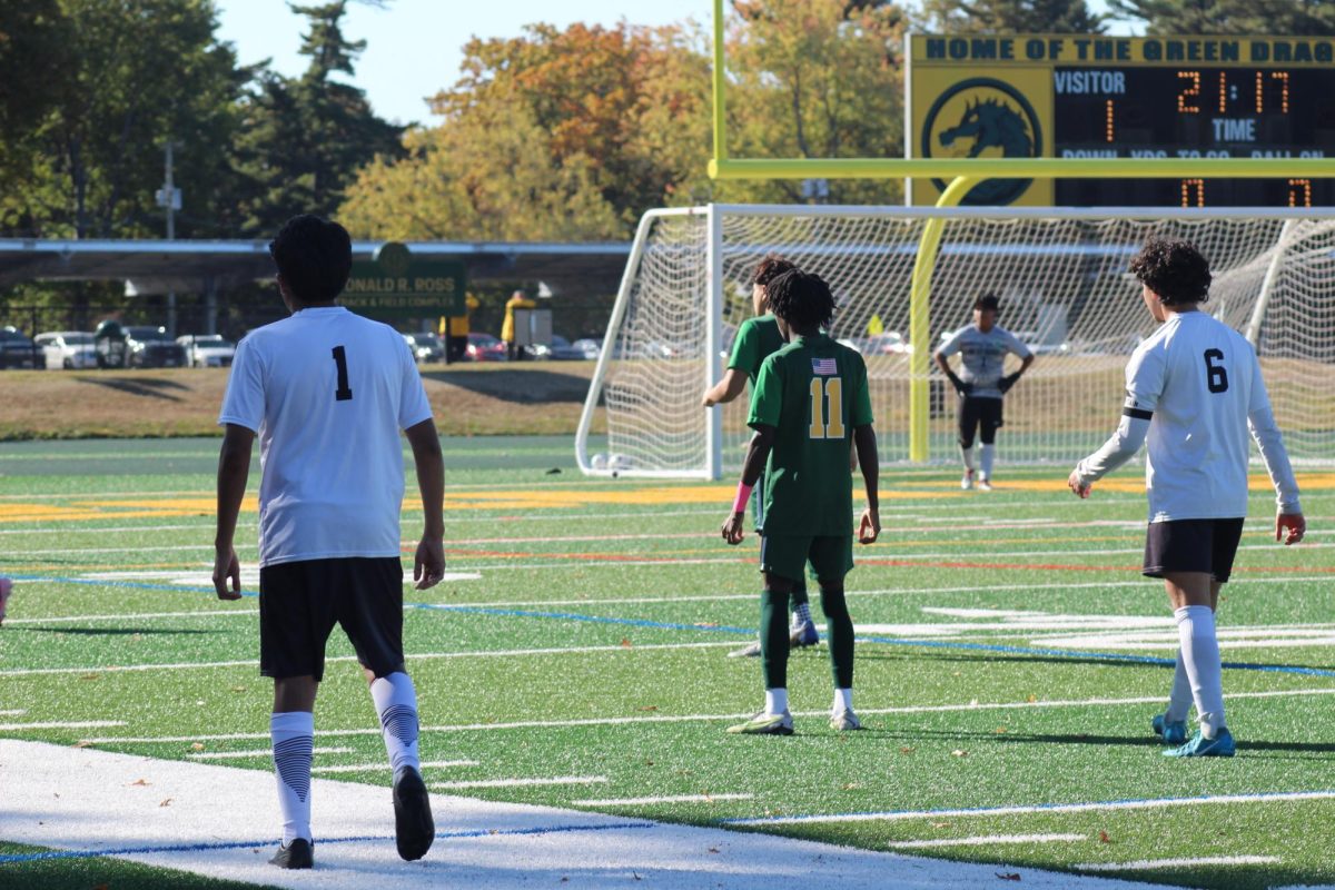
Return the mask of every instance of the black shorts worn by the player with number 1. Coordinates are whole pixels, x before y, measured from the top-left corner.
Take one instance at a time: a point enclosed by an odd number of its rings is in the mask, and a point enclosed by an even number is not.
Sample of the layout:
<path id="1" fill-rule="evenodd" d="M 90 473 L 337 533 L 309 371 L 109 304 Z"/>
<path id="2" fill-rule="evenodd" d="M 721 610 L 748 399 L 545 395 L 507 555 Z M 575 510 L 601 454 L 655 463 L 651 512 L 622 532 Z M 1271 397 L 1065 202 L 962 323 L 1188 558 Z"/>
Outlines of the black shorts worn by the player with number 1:
<path id="1" fill-rule="evenodd" d="M 335 622 L 376 677 L 403 670 L 403 566 L 379 559 L 310 559 L 259 570 L 259 673 L 324 677 Z"/>

